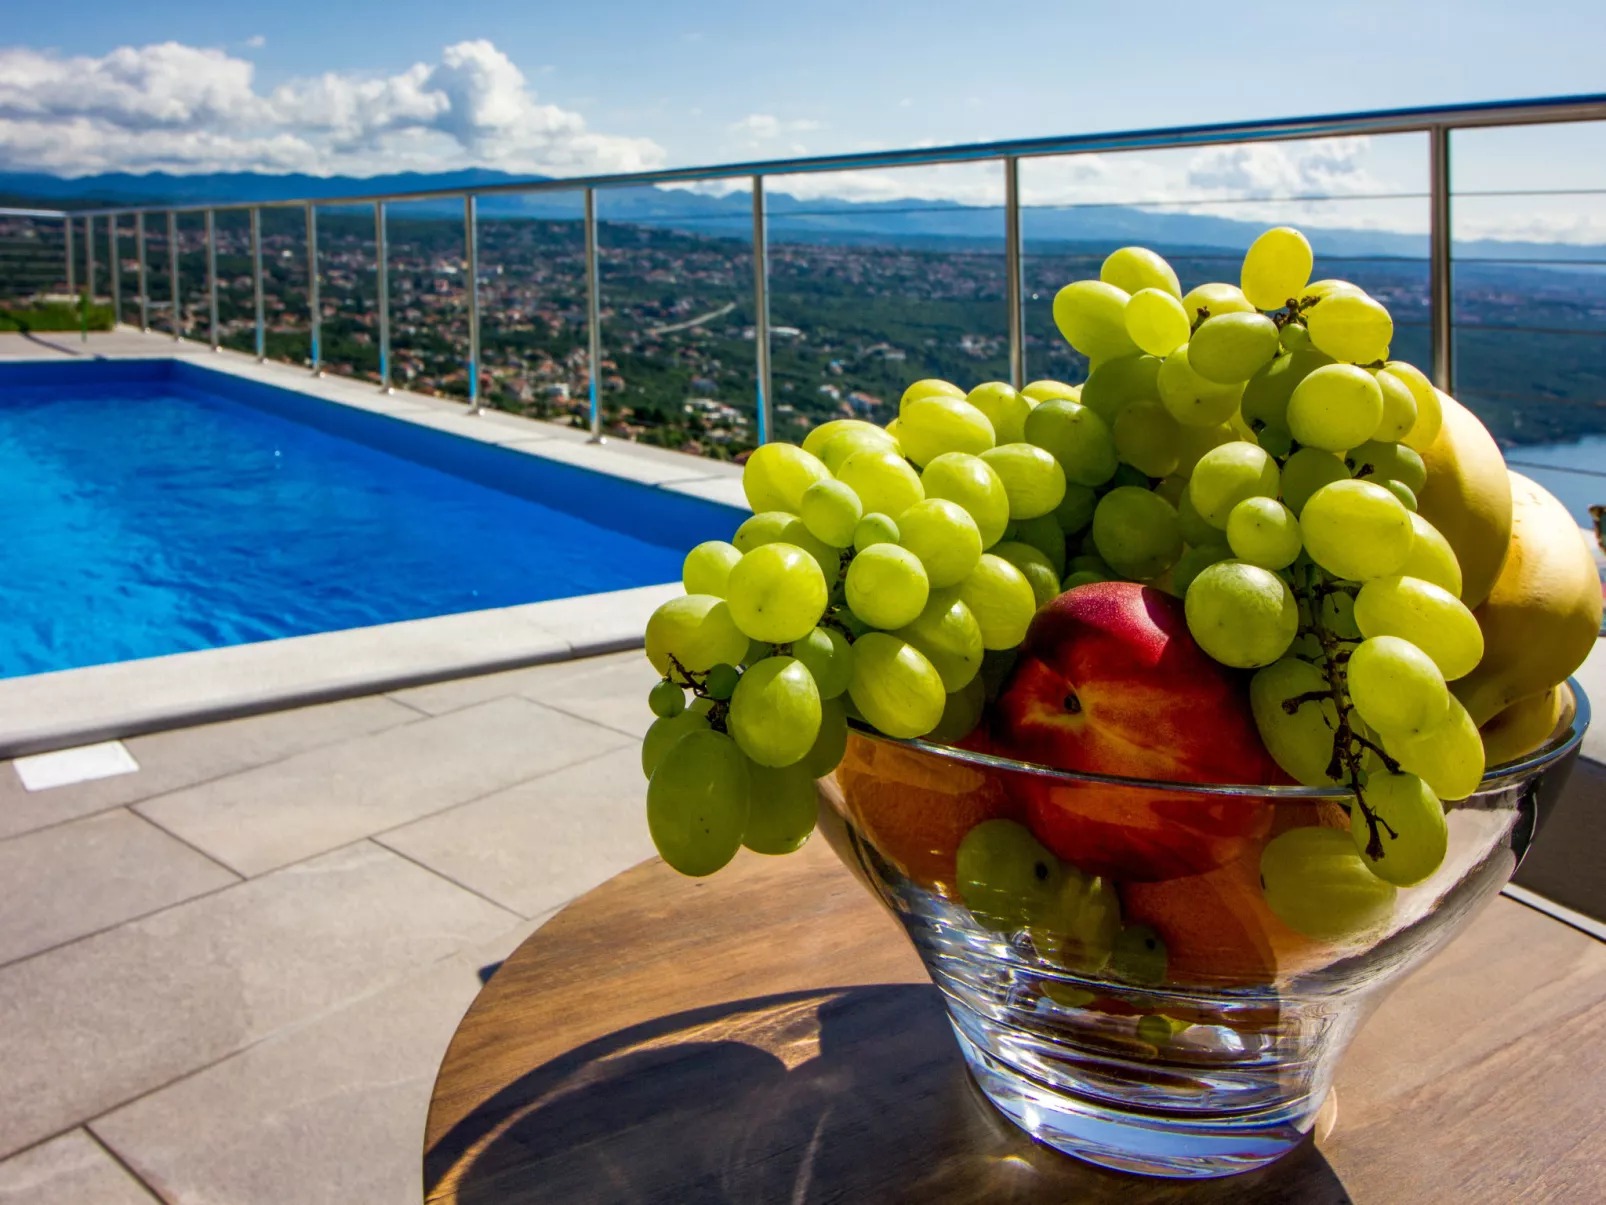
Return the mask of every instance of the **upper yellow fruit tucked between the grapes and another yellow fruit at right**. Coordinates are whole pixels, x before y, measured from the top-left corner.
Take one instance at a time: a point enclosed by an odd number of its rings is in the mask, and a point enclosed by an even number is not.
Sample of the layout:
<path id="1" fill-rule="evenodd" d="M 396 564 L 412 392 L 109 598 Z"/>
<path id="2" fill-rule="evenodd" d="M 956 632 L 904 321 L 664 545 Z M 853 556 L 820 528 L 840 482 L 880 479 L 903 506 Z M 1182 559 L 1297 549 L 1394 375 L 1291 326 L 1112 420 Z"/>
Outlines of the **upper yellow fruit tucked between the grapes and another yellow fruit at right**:
<path id="1" fill-rule="evenodd" d="M 1461 601 L 1476 609 L 1505 564 L 1511 485 L 1505 458 L 1478 416 L 1449 394 L 1437 397 L 1444 424 L 1421 453 L 1428 482 L 1416 493 L 1416 513 L 1450 541 L 1461 564 Z"/>

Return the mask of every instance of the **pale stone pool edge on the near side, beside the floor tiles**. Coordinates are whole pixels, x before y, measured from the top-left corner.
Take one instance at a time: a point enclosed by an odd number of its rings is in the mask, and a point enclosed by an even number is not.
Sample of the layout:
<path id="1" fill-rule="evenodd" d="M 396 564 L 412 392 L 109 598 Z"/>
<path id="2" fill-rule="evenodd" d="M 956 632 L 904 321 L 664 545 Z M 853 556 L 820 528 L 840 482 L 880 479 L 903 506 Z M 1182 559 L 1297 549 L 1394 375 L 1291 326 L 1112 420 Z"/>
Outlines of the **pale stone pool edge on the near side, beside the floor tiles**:
<path id="1" fill-rule="evenodd" d="M 0 758 L 641 647 L 678 582 L 0 680 Z"/>

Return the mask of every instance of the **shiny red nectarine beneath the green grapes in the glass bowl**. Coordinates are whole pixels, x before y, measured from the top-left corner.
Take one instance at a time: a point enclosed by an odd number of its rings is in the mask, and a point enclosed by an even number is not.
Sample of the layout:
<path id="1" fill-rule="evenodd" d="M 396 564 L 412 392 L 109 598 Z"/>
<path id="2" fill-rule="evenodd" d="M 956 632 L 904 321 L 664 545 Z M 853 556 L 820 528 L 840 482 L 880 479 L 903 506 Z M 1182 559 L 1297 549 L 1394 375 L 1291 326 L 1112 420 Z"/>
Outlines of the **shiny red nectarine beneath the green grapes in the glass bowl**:
<path id="1" fill-rule="evenodd" d="M 1135 582 L 1076 586 L 1033 619 L 994 710 L 1023 762 L 1163 782 L 1286 782 L 1261 744 L 1248 678 L 1188 635 L 1182 602 Z M 1037 840 L 1087 874 L 1161 880 L 1245 855 L 1262 799 L 1017 774 Z"/>

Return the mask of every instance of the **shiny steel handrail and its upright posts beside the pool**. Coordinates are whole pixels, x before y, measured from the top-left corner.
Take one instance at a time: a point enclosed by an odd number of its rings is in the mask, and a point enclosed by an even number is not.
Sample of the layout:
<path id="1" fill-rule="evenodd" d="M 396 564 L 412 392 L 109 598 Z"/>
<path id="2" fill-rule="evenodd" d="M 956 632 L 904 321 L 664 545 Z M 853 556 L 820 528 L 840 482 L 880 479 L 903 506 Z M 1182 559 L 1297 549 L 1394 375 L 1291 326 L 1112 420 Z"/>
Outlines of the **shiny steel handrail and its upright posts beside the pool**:
<path id="1" fill-rule="evenodd" d="M 1423 106 L 1407 109 L 1375 109 L 1312 117 L 1278 117 L 1270 120 L 1219 122 L 1209 125 L 1176 125 L 1111 133 L 1058 135 L 1049 138 L 1017 138 L 1007 141 L 960 143 L 952 146 L 906 148 L 896 151 L 866 151 L 853 154 L 827 154 L 800 159 L 760 159 L 750 162 L 721 164 L 711 167 L 670 167 L 650 172 L 615 172 L 604 175 L 512 180 L 471 188 L 427 188 L 403 193 L 361 193 L 349 196 L 296 198 L 281 201 L 226 201 L 214 204 L 183 206 L 114 206 L 79 210 L 3 209 L 0 217 L 61 219 L 66 227 L 67 286 L 74 288 L 75 265 L 72 255 L 72 225 L 84 219 L 85 243 L 92 243 L 93 219 L 108 217 L 108 227 L 116 230 L 122 214 L 135 215 L 135 239 L 140 255 L 140 325 L 149 329 L 145 270 L 145 215 L 167 214 L 172 223 L 177 214 L 202 212 L 207 215 L 209 244 L 209 292 L 212 294 L 212 344 L 217 345 L 215 318 L 215 251 L 214 220 L 218 210 L 247 210 L 251 215 L 252 263 L 255 276 L 255 349 L 257 358 L 265 358 L 265 329 L 262 304 L 262 252 L 260 222 L 263 209 L 302 206 L 307 209 L 310 289 L 316 296 L 316 217 L 320 206 L 373 206 L 376 225 L 376 278 L 379 286 L 379 349 L 381 387 L 390 387 L 390 313 L 385 254 L 385 206 L 408 201 L 464 201 L 464 251 L 471 305 L 471 347 L 467 373 L 471 381 L 471 410 L 479 413 L 479 272 L 475 202 L 483 196 L 519 193 L 573 193 L 585 199 L 585 257 L 586 257 L 586 321 L 591 378 L 591 434 L 601 440 L 601 299 L 597 270 L 597 214 L 596 193 L 604 188 L 642 188 L 666 183 L 694 183 L 707 180 L 748 178 L 753 196 L 753 281 L 755 281 L 755 357 L 756 357 L 756 408 L 760 440 L 774 435 L 772 398 L 769 389 L 769 339 L 768 339 L 768 238 L 764 222 L 764 180 L 779 175 L 806 175 L 819 172 L 858 172 L 893 167 L 927 167 L 941 164 L 1001 162 L 1004 167 L 1004 230 L 1005 268 L 1009 276 L 1009 342 L 1010 379 L 1023 384 L 1026 379 L 1025 315 L 1020 273 L 1023 263 L 1023 236 L 1020 212 L 1020 161 L 1047 156 L 1092 154 L 1110 151 L 1176 149 L 1221 146 L 1253 141 L 1290 141 L 1306 138 L 1335 138 L 1346 135 L 1426 133 L 1429 138 L 1429 328 L 1433 333 L 1433 378 L 1450 390 L 1453 386 L 1453 358 L 1450 355 L 1452 307 L 1450 307 L 1450 132 L 1505 125 L 1540 125 L 1558 122 L 1606 120 L 1606 93 L 1577 96 L 1551 96 L 1532 100 L 1486 101 L 1478 104 Z M 1137 202 L 1140 204 L 1140 202 Z M 169 230 L 172 231 L 172 225 Z M 170 244 L 175 239 L 170 236 Z M 172 247 L 175 251 L 175 247 Z M 177 255 L 175 255 L 177 259 Z M 177 267 L 173 268 L 173 302 L 177 315 Z M 313 371 L 320 371 L 321 357 L 316 349 L 318 315 L 313 315 Z M 177 317 L 175 317 L 177 331 Z"/>

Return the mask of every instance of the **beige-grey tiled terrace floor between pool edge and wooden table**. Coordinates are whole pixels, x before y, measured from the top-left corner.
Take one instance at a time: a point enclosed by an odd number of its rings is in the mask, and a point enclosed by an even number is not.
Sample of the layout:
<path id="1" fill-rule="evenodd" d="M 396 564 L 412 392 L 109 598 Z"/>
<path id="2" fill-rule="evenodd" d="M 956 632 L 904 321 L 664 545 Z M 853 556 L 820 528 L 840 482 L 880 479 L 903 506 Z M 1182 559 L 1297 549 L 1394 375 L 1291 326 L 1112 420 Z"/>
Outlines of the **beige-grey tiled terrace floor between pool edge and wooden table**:
<path id="1" fill-rule="evenodd" d="M 479 972 L 652 853 L 639 652 L 0 765 L 0 1203 L 416 1205 Z"/>

